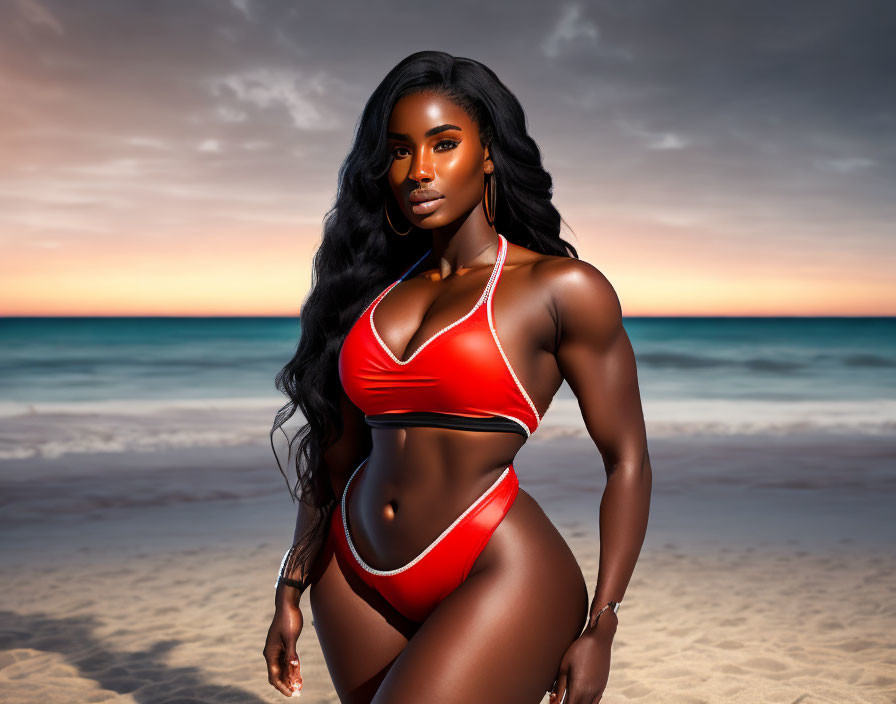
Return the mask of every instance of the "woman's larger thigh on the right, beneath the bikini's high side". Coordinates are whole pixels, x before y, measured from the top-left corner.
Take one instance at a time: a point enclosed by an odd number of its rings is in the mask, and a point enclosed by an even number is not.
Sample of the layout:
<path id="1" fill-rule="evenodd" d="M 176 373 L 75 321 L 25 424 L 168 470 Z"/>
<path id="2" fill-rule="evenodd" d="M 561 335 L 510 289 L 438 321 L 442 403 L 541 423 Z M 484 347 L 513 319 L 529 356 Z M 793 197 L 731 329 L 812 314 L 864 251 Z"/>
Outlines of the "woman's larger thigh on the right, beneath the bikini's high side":
<path id="1" fill-rule="evenodd" d="M 575 556 L 521 489 L 466 581 L 420 626 L 373 701 L 537 704 L 587 611 Z"/>

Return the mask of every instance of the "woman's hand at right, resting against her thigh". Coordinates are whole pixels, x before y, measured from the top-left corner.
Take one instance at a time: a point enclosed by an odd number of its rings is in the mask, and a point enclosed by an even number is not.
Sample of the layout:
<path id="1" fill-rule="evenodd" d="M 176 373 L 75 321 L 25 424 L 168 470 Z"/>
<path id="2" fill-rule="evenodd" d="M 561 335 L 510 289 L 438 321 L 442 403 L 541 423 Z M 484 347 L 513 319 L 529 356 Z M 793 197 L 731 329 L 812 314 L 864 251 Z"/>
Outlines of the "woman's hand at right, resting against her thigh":
<path id="1" fill-rule="evenodd" d="M 597 704 L 601 700 L 610 677 L 610 648 L 617 624 L 616 614 L 607 610 L 596 626 L 589 626 L 573 641 L 560 662 L 551 704 L 560 704 L 564 696 L 563 704 Z"/>

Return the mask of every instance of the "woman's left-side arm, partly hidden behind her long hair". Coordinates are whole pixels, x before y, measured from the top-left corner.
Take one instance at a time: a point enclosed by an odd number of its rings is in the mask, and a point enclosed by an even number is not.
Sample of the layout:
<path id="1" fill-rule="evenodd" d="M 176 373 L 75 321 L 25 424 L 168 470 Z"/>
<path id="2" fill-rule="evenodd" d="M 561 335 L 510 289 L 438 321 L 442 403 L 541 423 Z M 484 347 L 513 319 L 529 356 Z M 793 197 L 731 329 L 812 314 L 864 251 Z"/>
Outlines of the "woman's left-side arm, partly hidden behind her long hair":
<path id="1" fill-rule="evenodd" d="M 349 400 L 345 391 L 340 394 L 340 405 L 342 409 L 343 431 L 335 441 L 324 450 L 324 471 L 326 471 L 333 493 L 335 496 L 342 495 L 342 489 L 345 487 L 351 471 L 355 468 L 358 461 L 369 452 L 367 445 L 369 444 L 369 432 L 364 423 L 364 414 Z M 293 532 L 292 544 L 295 545 L 304 534 L 305 530 L 317 520 L 320 509 L 304 501 L 299 501 L 299 507 L 296 514 L 296 526 Z M 302 562 L 296 563 L 295 568 L 286 575 L 292 579 L 301 580 L 303 575 L 307 575 L 311 569 L 311 565 L 317 559 L 323 540 L 318 541 L 314 548 L 309 552 L 307 558 Z M 288 585 L 280 585 L 276 592 L 276 601 L 281 600 L 298 606 L 301 593 L 295 587 Z"/>

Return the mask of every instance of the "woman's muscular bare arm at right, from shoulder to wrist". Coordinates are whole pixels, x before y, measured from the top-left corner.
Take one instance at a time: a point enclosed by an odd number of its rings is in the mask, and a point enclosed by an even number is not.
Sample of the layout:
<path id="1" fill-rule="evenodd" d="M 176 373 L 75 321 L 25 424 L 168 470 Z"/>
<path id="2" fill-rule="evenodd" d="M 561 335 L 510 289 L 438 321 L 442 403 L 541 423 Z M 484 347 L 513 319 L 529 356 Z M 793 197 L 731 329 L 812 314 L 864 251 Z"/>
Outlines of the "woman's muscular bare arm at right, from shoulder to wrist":
<path id="1" fill-rule="evenodd" d="M 616 292 L 600 271 L 578 259 L 555 264 L 551 292 L 558 321 L 557 363 L 607 474 L 591 630 L 602 606 L 622 601 L 635 569 L 647 531 L 652 472 L 635 356 Z M 612 638 L 616 624 L 608 609 L 597 631 Z"/>

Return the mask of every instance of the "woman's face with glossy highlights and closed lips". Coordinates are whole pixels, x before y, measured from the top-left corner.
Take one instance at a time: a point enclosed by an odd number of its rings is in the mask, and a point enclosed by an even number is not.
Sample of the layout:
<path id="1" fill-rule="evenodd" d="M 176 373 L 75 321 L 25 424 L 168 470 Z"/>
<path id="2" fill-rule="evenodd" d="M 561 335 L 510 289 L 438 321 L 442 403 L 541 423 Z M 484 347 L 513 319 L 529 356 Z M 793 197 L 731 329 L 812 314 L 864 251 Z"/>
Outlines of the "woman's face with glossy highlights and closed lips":
<path id="1" fill-rule="evenodd" d="M 435 93 L 408 95 L 392 109 L 387 131 L 392 154 L 389 187 L 412 225 L 443 227 L 480 206 L 484 174 L 494 166 L 487 161 L 488 147 L 479 143 L 477 124 L 466 112 Z M 418 184 L 441 197 L 418 206 L 409 200 Z"/>

